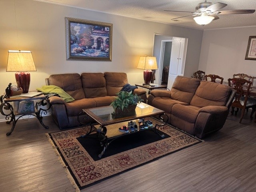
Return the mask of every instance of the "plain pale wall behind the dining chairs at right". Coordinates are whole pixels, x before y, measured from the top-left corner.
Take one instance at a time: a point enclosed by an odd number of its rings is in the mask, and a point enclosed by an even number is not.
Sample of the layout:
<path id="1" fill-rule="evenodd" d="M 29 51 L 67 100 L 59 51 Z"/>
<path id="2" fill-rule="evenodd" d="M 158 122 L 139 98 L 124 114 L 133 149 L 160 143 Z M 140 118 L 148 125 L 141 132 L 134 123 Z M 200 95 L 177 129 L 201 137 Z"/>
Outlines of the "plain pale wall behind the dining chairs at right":
<path id="1" fill-rule="evenodd" d="M 256 35 L 256 26 L 205 30 L 198 69 L 217 74 L 228 81 L 233 74 L 256 76 L 256 60 L 245 60 L 249 36 Z"/>

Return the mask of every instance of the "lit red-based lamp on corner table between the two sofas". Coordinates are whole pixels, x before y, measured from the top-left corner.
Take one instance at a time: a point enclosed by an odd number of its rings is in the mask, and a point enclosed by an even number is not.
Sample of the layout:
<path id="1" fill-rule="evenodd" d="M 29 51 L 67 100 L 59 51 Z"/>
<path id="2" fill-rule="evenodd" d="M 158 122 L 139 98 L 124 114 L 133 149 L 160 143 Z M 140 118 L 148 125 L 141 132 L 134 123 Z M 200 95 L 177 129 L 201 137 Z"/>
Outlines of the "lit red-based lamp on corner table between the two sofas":
<path id="1" fill-rule="evenodd" d="M 157 69 L 156 57 L 140 56 L 138 69 L 144 69 L 144 83 L 149 85 L 152 79 L 152 70 Z"/>

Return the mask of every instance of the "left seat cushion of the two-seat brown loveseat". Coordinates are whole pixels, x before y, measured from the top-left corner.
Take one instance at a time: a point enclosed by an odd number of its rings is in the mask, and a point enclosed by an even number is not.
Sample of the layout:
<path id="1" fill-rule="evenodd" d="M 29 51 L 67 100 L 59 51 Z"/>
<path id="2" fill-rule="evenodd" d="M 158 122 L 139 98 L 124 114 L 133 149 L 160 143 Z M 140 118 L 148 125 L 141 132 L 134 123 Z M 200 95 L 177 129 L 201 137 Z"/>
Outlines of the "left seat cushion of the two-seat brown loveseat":
<path id="1" fill-rule="evenodd" d="M 164 110 L 166 113 L 172 112 L 172 106 L 174 104 L 188 105 L 188 103 L 184 103 L 181 101 L 173 100 L 170 97 L 156 97 L 152 101 L 152 106 Z"/>

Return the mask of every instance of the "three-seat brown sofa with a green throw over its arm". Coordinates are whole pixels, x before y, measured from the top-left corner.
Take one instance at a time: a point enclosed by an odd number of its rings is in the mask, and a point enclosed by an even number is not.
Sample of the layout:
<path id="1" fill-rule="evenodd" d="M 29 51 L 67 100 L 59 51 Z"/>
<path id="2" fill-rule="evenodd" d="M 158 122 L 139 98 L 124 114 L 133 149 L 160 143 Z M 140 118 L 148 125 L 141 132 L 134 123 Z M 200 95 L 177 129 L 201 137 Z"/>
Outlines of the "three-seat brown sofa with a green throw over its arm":
<path id="1" fill-rule="evenodd" d="M 46 85 L 58 86 L 75 99 L 65 103 L 58 96 L 49 98 L 54 121 L 60 129 L 80 126 L 78 115 L 82 109 L 109 106 L 125 84 L 128 84 L 126 73 L 118 72 L 50 75 L 46 78 Z M 146 102 L 145 90 L 135 89 L 133 93 Z M 85 115 L 79 119 L 84 123 L 93 121 Z"/>

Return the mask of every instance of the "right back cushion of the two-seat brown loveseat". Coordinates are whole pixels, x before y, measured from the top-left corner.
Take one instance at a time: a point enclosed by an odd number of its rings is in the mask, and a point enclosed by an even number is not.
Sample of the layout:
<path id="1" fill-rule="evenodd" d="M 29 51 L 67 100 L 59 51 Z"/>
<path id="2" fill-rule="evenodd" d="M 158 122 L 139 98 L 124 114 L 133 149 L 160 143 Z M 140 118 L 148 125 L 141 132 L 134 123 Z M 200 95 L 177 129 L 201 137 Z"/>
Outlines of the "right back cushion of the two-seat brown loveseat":
<path id="1" fill-rule="evenodd" d="M 230 95 L 230 87 L 210 81 L 201 81 L 190 104 L 197 107 L 225 106 Z"/>

